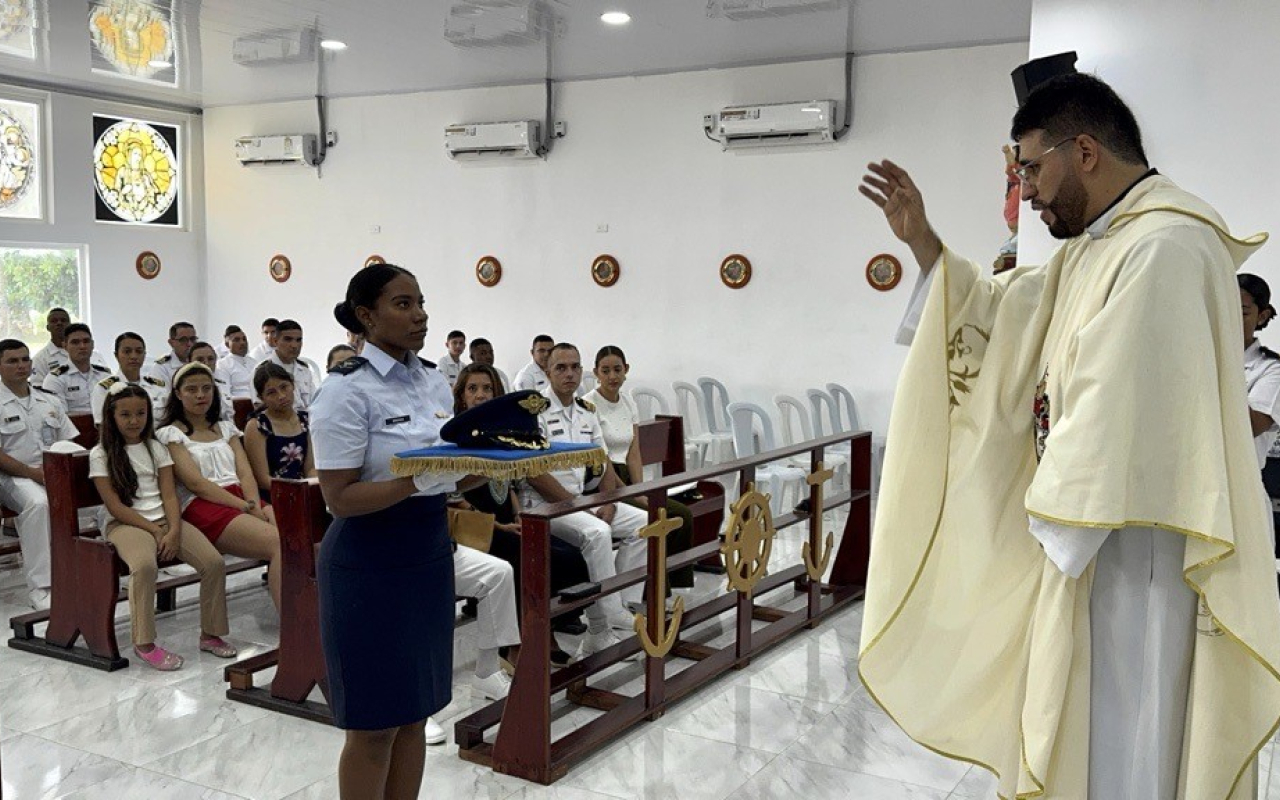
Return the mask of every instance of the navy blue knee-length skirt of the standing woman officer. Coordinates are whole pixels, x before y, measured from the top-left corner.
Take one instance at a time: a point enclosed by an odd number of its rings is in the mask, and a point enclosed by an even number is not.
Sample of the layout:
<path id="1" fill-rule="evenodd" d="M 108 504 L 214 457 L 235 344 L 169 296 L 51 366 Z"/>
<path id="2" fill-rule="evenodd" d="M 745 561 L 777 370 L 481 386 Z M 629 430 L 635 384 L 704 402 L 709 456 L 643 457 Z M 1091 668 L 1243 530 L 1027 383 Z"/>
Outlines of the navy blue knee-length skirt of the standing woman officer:
<path id="1" fill-rule="evenodd" d="M 335 518 L 320 545 L 316 584 L 339 728 L 393 728 L 449 704 L 453 545 L 443 495 Z"/>

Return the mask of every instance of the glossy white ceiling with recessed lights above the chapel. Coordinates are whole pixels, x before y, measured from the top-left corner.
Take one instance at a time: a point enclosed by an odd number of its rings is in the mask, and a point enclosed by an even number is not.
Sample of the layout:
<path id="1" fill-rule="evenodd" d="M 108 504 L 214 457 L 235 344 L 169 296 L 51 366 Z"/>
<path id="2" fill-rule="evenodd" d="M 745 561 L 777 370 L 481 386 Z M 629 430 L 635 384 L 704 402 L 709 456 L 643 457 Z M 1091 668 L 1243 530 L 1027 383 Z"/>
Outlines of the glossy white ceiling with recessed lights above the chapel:
<path id="1" fill-rule="evenodd" d="M 26 4 L 26 9 L 23 5 Z M 170 84 L 93 72 L 90 19 L 168 18 Z M 797 6 L 809 6 L 797 8 Z M 650 74 L 832 56 L 1024 41 L 1032 0 L 0 0 L 0 79 L 216 106 L 552 79 Z M 13 9 L 18 9 L 17 12 Z M 632 22 L 611 27 L 605 10 Z M 753 18 L 732 19 L 745 12 Z M 29 13 L 35 26 L 22 28 Z M 308 31 L 344 41 L 316 59 L 246 67 L 237 41 Z M 10 32 L 8 38 L 5 32 Z M 31 50 L 6 54 L 6 50 Z"/>

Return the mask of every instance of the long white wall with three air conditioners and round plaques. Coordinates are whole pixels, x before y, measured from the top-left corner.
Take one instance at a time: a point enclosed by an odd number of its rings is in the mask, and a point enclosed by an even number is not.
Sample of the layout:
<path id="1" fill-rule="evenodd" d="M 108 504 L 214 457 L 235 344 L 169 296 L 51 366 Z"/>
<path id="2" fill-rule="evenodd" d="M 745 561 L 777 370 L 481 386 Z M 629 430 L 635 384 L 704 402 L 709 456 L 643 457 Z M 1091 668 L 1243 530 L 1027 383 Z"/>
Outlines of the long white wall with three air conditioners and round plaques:
<path id="1" fill-rule="evenodd" d="M 585 358 L 621 346 L 632 380 L 668 394 L 671 380 L 704 374 L 765 403 L 840 381 L 864 425 L 883 431 L 904 357 L 891 337 L 916 269 L 856 193 L 863 166 L 893 157 L 913 169 L 948 242 L 993 260 L 1007 236 L 1009 72 L 1025 55 L 1025 45 L 1000 45 L 860 58 L 851 133 L 806 152 L 723 154 L 700 122 L 733 102 L 840 97 L 838 60 L 563 84 L 557 115 L 568 137 L 545 163 L 500 166 L 451 163 L 442 129 L 536 118 L 540 87 L 335 100 L 340 143 L 323 179 L 241 168 L 232 154 L 238 136 L 314 131 L 312 104 L 210 109 L 207 325 L 294 316 L 308 355 L 321 357 L 342 337 L 333 305 L 376 252 L 422 282 L 426 357 L 461 328 L 492 339 L 513 371 L 545 332 Z M 882 251 L 906 266 L 888 293 L 863 274 Z M 288 283 L 268 275 L 275 252 L 293 262 Z M 609 289 L 589 275 L 602 252 L 622 265 Z M 754 265 L 741 291 L 718 279 L 731 252 Z M 474 276 L 485 253 L 503 264 L 493 289 Z"/>

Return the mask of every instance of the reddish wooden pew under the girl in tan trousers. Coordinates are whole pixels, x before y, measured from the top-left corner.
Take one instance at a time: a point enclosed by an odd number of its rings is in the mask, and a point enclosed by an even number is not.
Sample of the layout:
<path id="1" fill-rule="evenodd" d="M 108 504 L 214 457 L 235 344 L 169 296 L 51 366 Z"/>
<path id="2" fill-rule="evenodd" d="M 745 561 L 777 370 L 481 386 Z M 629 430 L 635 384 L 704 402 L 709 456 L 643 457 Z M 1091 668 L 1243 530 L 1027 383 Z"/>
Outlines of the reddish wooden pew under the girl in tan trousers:
<path id="1" fill-rule="evenodd" d="M 49 492 L 49 532 L 52 579 L 49 611 L 19 614 L 9 621 L 9 646 L 114 672 L 129 666 L 115 640 L 115 605 L 125 599 L 120 576 L 128 566 L 97 530 L 79 530 L 78 511 L 100 506 L 101 498 L 88 477 L 88 453 L 45 453 L 45 486 Z M 160 566 L 179 563 L 161 562 Z M 241 559 L 227 564 L 227 573 L 264 566 Z M 196 575 L 156 584 L 157 607 L 173 608 L 177 589 L 198 584 Z M 45 635 L 36 626 L 47 622 Z M 77 646 L 82 637 L 86 646 Z"/>

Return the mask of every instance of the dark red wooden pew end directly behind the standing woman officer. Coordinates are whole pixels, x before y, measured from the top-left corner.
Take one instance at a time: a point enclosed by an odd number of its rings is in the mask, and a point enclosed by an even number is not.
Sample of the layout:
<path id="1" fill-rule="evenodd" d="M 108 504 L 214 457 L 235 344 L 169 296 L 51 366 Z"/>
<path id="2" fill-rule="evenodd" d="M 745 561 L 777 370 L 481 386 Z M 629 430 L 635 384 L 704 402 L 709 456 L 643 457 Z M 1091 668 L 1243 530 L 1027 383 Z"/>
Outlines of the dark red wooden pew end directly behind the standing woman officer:
<path id="1" fill-rule="evenodd" d="M 316 686 L 325 700 L 329 698 L 316 589 L 316 556 L 329 527 L 329 512 L 320 484 L 314 480 L 273 480 L 271 507 L 280 529 L 280 645 L 227 667 L 227 698 L 332 723 L 326 704 L 307 700 Z M 275 667 L 270 689 L 255 686 L 253 675 L 269 667 Z"/>

